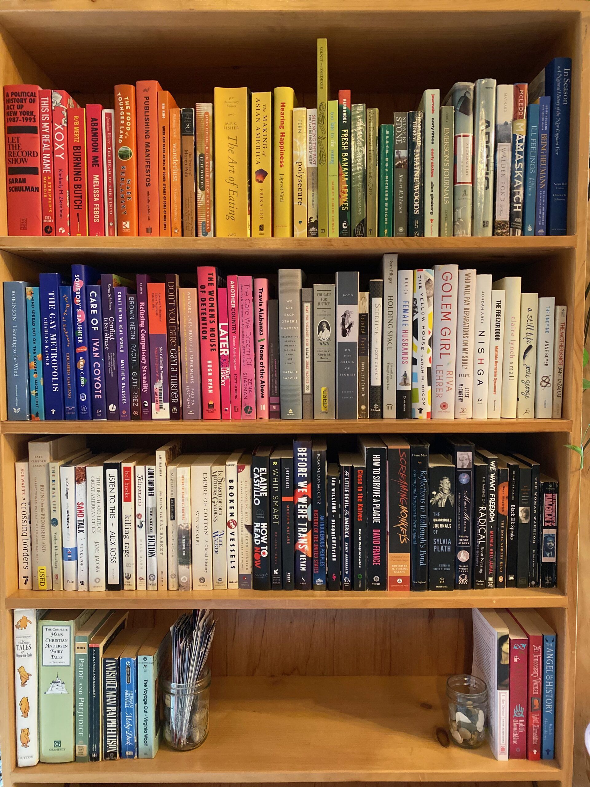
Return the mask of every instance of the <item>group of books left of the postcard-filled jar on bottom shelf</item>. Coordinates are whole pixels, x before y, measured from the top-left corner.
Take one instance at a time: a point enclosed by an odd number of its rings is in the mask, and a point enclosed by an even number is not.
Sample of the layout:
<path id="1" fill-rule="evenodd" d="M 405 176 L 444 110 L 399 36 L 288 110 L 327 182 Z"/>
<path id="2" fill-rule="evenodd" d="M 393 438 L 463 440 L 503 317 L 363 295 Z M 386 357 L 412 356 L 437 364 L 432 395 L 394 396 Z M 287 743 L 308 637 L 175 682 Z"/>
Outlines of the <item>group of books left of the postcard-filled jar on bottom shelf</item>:
<path id="1" fill-rule="evenodd" d="M 19 767 L 156 756 L 170 630 L 127 628 L 128 615 L 14 610 Z"/>

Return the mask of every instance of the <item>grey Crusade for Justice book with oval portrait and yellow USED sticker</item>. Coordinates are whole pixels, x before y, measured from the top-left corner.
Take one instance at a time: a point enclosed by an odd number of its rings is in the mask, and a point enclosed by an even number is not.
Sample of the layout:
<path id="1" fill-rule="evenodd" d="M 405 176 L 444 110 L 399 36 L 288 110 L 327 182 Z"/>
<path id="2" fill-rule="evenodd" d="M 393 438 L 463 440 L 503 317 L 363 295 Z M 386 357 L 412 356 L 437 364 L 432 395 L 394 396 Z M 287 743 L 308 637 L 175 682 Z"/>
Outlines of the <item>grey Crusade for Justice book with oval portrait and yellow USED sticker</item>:
<path id="1" fill-rule="evenodd" d="M 313 398 L 316 419 L 333 419 L 336 410 L 334 284 L 313 286 Z"/>

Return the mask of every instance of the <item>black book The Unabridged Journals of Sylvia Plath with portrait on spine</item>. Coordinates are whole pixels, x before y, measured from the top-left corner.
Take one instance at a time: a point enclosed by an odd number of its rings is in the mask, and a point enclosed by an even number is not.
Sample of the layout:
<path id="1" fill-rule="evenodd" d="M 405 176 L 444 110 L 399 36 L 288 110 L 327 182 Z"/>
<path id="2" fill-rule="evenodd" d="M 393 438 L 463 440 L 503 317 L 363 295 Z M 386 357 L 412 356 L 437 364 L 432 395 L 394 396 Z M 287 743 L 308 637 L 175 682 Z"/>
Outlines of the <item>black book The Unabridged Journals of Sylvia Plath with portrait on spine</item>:
<path id="1" fill-rule="evenodd" d="M 446 456 L 430 456 L 429 590 L 452 590 L 455 583 L 455 475 Z"/>

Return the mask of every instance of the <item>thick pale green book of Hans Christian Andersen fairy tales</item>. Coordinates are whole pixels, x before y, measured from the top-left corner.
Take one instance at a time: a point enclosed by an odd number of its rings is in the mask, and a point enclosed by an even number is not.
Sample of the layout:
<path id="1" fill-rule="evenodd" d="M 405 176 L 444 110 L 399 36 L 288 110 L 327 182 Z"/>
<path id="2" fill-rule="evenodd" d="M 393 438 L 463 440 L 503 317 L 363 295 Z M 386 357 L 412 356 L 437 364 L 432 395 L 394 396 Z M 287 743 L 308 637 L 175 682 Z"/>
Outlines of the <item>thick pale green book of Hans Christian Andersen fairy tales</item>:
<path id="1" fill-rule="evenodd" d="M 51 609 L 39 620 L 39 759 L 42 763 L 74 760 L 76 632 L 91 609 Z"/>

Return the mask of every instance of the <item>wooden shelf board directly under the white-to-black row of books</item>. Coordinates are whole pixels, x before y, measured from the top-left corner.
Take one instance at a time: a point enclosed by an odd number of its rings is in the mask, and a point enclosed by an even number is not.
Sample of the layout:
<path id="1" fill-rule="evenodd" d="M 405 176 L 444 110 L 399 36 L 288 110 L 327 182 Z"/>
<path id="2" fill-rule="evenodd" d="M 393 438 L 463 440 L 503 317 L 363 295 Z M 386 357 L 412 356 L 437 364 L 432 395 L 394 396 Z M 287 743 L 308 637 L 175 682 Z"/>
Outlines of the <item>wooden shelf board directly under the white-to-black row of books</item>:
<path id="1" fill-rule="evenodd" d="M 469 609 L 469 608 L 565 608 L 567 597 L 558 589 L 507 588 L 453 590 L 448 593 L 364 593 L 338 590 L 164 590 L 79 593 L 52 590 L 48 593 L 19 590 L 6 598 L 6 609 Z"/>

